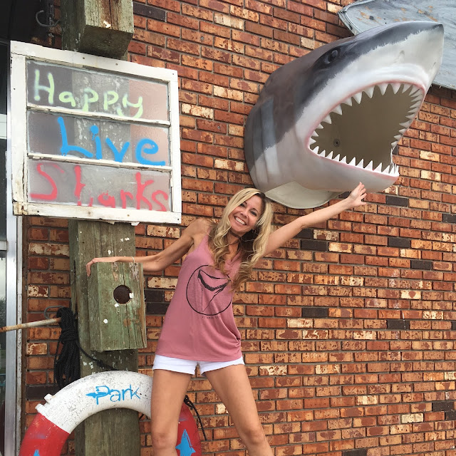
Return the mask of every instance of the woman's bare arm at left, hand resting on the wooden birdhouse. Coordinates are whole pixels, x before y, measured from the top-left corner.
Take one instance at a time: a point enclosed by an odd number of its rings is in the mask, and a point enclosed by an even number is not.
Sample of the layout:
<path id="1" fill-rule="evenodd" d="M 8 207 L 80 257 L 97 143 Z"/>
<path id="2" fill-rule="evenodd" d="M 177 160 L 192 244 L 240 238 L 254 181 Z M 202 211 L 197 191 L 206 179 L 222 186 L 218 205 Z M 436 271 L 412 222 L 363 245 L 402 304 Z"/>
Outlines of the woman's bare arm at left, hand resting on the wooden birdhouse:
<path id="1" fill-rule="evenodd" d="M 173 242 L 169 247 L 163 249 L 157 254 L 147 257 L 100 257 L 90 260 L 86 264 L 87 275 L 90 276 L 90 268 L 94 263 L 135 263 L 142 264 L 142 270 L 145 272 L 162 271 L 178 259 L 182 258 L 192 247 L 195 242 L 195 235 L 207 231 L 207 221 L 197 219 L 185 228 L 179 239 Z"/>

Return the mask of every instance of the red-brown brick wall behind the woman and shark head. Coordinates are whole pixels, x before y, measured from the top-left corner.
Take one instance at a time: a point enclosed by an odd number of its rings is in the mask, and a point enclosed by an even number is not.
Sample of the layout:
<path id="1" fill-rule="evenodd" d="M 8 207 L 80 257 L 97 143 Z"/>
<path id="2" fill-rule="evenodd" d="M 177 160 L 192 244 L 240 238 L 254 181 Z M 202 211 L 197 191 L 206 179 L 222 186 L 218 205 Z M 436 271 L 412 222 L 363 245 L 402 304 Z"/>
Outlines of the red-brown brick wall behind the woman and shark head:
<path id="1" fill-rule="evenodd" d="M 348 3 L 348 2 L 346 2 Z M 348 36 L 341 1 L 134 1 L 130 60 L 177 70 L 182 226 L 218 217 L 252 185 L 244 161 L 249 110 L 269 74 L 322 43 Z M 266 434 L 276 456 L 455 456 L 456 95 L 431 88 L 394 161 L 400 179 L 368 206 L 305 229 L 264 259 L 237 294 L 234 314 Z M 305 211 L 274 204 L 279 226 Z M 68 232 L 26 219 L 26 318 L 68 305 Z M 182 227 L 140 224 L 137 254 Z M 147 276 L 153 353 L 178 265 Z M 56 327 L 26 331 L 26 424 L 52 385 Z M 204 378 L 190 385 L 206 427 L 204 455 L 245 455 Z M 152 455 L 147 420 L 142 456 Z M 70 443 L 69 452 L 73 445 Z"/>

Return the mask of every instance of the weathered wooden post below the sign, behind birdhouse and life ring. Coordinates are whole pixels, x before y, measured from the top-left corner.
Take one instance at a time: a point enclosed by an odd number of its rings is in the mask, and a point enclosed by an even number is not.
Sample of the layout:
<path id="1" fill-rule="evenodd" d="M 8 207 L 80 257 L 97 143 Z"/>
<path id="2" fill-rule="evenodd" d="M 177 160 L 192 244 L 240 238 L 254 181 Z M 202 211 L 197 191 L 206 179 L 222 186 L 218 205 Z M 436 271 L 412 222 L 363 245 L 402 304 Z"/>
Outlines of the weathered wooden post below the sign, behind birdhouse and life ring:
<path id="1" fill-rule="evenodd" d="M 81 347 L 91 356 L 120 371 L 138 371 L 138 351 L 90 351 L 90 312 L 86 264 L 94 257 L 135 254 L 135 229 L 130 224 L 68 222 L 71 261 L 71 301 L 78 314 Z M 139 278 L 142 280 L 142 277 Z M 81 354 L 81 377 L 103 369 Z M 102 386 L 102 385 L 100 385 Z M 76 428 L 77 456 L 138 456 L 138 413 L 125 408 L 105 410 L 90 416 Z"/>

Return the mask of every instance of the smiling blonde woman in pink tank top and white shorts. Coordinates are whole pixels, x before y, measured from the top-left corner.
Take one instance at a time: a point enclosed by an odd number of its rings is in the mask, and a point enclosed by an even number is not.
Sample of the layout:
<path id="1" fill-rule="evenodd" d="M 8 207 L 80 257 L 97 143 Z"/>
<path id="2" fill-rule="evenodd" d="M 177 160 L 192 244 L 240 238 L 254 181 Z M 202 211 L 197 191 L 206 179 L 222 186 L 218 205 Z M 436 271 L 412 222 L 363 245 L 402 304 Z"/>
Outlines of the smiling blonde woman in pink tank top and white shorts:
<path id="1" fill-rule="evenodd" d="M 364 197 L 366 189 L 360 182 L 346 199 L 271 232 L 271 203 L 259 190 L 244 189 L 229 200 L 217 224 L 197 219 L 162 252 L 133 258 L 143 271 L 157 272 L 187 254 L 155 352 L 151 402 L 155 456 L 177 456 L 177 422 L 196 366 L 227 407 L 249 455 L 272 456 L 242 361 L 232 296 L 264 255 L 302 229 L 366 204 Z M 87 273 L 93 263 L 131 260 L 94 258 L 87 264 Z"/>

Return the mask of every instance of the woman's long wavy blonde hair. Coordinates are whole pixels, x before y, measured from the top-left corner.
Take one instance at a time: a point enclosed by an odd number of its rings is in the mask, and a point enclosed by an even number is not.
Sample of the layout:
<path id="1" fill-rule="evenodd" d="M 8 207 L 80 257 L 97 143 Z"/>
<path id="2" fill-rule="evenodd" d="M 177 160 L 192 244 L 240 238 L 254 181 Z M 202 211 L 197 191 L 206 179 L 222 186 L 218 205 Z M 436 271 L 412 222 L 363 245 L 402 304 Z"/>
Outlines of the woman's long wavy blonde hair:
<path id="1" fill-rule="evenodd" d="M 214 255 L 214 266 L 221 271 L 224 271 L 224 258 L 229 253 L 228 233 L 229 229 L 231 229 L 229 214 L 231 214 L 239 204 L 242 204 L 255 195 L 261 198 L 261 216 L 259 217 L 255 228 L 239 238 L 241 264 L 233 281 L 233 289 L 239 289 L 244 282 L 249 280 L 254 265 L 264 256 L 269 234 L 271 234 L 273 217 L 272 204 L 263 192 L 260 192 L 255 188 L 239 190 L 224 208 L 220 221 L 217 224 L 214 224 L 209 232 L 209 249 Z"/>

